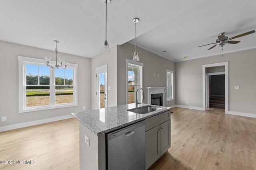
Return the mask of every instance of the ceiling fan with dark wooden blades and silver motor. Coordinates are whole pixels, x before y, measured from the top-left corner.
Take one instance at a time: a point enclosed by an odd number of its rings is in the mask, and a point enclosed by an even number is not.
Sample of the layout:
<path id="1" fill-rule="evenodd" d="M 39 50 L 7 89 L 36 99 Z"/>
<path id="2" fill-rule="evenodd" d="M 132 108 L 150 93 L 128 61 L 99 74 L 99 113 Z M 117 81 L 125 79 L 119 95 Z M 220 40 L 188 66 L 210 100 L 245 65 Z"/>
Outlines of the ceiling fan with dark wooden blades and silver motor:
<path id="1" fill-rule="evenodd" d="M 223 47 L 226 44 L 237 44 L 237 43 L 240 43 L 240 41 L 230 41 L 230 40 L 238 38 L 238 37 L 243 37 L 245 35 L 249 35 L 249 34 L 252 34 L 252 33 L 255 33 L 255 31 L 252 30 L 252 31 L 249 31 L 247 33 L 242 33 L 240 35 L 236 35 L 236 36 L 231 37 L 231 38 L 228 38 L 227 36 L 225 36 L 224 33 L 219 33 L 218 39 L 216 39 L 216 43 L 210 43 L 210 44 L 216 44 L 216 45 L 212 46 L 210 49 L 212 49 L 212 48 L 214 48 L 216 46 Z M 210 44 L 206 44 L 206 45 L 210 45 Z M 202 47 L 202 46 L 205 46 L 205 45 L 201 45 L 199 47 Z M 210 50 L 210 49 L 208 49 L 208 50 Z"/>

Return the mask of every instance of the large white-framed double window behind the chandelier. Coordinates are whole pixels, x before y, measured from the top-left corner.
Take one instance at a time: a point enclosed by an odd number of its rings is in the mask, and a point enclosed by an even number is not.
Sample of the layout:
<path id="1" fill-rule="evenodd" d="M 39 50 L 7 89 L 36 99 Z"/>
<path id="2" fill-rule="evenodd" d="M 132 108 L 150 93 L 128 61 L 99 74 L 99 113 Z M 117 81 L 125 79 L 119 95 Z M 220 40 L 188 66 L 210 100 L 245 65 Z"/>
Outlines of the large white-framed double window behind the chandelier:
<path id="1" fill-rule="evenodd" d="M 18 60 L 19 113 L 77 106 L 77 64 L 52 69 L 42 59 Z"/>

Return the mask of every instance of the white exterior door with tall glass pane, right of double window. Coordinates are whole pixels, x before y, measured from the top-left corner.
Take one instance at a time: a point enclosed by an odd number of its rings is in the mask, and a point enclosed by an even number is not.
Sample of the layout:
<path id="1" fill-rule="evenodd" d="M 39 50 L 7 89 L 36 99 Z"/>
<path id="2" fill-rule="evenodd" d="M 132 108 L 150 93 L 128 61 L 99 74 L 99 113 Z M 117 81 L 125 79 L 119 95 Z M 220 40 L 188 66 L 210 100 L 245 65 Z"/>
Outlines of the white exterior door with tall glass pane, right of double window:
<path id="1" fill-rule="evenodd" d="M 108 107 L 107 64 L 96 68 L 96 109 Z"/>

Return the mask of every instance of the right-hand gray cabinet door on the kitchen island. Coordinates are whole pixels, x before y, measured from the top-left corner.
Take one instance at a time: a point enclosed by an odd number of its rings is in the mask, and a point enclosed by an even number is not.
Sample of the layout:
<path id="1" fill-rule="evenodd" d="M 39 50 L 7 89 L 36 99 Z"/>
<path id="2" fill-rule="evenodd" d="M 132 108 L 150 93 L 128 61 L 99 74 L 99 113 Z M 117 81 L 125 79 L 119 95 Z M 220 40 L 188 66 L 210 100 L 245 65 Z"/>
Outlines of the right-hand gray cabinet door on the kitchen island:
<path id="1" fill-rule="evenodd" d="M 171 120 L 160 125 L 160 156 L 171 147 Z"/>

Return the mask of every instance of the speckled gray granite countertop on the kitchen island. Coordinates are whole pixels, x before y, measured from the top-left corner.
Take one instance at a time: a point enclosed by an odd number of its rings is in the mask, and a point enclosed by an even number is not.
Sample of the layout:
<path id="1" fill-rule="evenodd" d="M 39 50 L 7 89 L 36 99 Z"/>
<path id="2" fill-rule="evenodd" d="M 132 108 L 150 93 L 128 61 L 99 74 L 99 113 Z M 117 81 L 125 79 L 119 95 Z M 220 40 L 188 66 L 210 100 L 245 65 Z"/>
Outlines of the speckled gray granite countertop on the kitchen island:
<path id="1" fill-rule="evenodd" d="M 149 104 L 139 104 L 138 107 L 154 106 Z M 136 108 L 135 104 L 125 104 L 120 106 L 81 111 L 71 113 L 85 127 L 94 132 L 97 136 L 126 127 L 138 121 L 142 121 L 154 115 L 158 115 L 171 109 L 171 107 L 154 106 L 162 109 L 146 114 L 137 114 L 128 109 Z"/>

